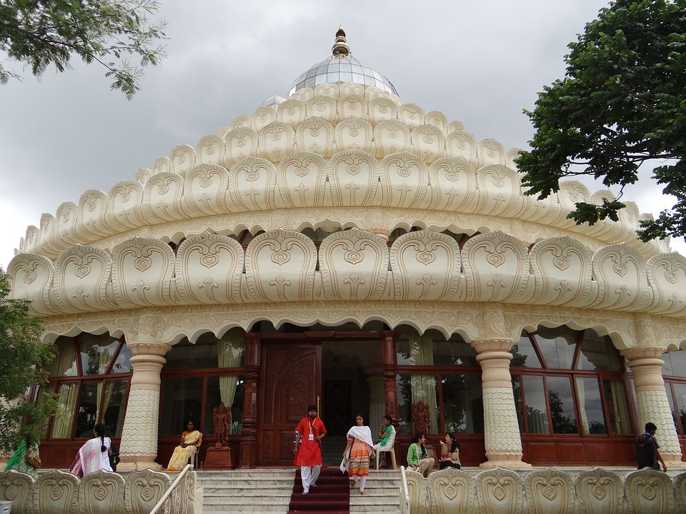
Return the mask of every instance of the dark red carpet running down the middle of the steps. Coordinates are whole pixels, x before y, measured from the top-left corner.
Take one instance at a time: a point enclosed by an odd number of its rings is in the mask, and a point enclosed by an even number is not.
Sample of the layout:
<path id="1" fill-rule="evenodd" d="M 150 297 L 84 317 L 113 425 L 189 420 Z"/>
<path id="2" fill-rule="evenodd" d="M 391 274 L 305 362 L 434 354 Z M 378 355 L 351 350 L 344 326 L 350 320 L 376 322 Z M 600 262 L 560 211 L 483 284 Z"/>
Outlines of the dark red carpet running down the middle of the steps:
<path id="1" fill-rule="evenodd" d="M 357 491 L 357 489 L 354 489 Z M 302 479 L 300 468 L 295 474 L 291 503 L 288 505 L 288 513 L 325 513 L 347 514 L 350 512 L 350 483 L 348 475 L 341 473 L 339 468 L 322 467 L 317 485 L 310 488 L 309 494 L 302 494 Z"/>

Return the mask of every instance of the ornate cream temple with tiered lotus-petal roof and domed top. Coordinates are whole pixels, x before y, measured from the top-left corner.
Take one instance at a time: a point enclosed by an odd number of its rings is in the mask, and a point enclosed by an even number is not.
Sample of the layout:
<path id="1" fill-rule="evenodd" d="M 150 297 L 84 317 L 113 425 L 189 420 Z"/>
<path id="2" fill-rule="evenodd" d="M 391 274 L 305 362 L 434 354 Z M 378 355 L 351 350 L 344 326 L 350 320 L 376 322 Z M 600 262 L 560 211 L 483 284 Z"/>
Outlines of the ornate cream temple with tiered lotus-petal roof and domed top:
<path id="1" fill-rule="evenodd" d="M 44 465 L 99 422 L 121 469 L 166 465 L 187 420 L 202 461 L 223 401 L 243 468 L 290 465 L 309 403 L 332 436 L 392 415 L 399 461 L 422 425 L 466 466 L 630 467 L 650 420 L 684 467 L 686 259 L 632 203 L 567 218 L 609 191 L 525 196 L 516 156 L 405 104 L 341 29 L 286 98 L 44 214 L 8 268 L 59 349 Z"/>

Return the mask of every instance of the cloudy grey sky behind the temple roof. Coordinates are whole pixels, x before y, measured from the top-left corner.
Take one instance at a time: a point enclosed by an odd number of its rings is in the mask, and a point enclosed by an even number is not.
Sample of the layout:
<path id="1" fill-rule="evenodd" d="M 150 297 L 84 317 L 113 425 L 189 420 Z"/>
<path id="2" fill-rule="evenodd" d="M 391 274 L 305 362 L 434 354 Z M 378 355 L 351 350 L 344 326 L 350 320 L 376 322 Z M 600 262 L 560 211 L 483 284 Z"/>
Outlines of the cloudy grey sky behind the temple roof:
<path id="1" fill-rule="evenodd" d="M 525 148 L 522 109 L 561 78 L 567 44 L 605 0 L 161 0 L 168 59 L 132 101 L 99 66 L 46 71 L 0 86 L 0 267 L 29 225 L 87 189 L 109 192 L 157 156 L 285 96 L 331 54 L 339 25 L 353 56 L 404 102 L 459 120 L 477 141 Z M 2 57 L 0 56 L 0 59 Z M 11 63 L 5 62 L 5 66 Z M 21 71 L 21 67 L 19 67 Z M 592 191 L 597 187 L 591 186 Z M 670 206 L 642 181 L 625 194 L 642 212 Z M 672 241 L 682 251 L 683 242 Z"/>

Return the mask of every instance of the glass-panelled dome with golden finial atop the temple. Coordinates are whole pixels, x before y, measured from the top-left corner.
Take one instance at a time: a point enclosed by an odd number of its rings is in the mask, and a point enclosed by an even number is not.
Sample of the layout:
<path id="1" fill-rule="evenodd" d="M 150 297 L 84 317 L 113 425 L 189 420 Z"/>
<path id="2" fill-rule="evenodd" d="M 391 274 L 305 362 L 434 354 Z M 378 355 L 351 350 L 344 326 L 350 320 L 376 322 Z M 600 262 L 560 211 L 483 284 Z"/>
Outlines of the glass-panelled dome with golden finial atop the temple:
<path id="1" fill-rule="evenodd" d="M 372 69 L 367 64 L 354 59 L 345 41 L 343 27 L 336 33 L 336 42 L 329 59 L 315 64 L 293 83 L 288 95 L 303 88 L 314 88 L 319 84 L 335 84 L 337 82 L 352 82 L 363 86 L 374 86 L 387 93 L 398 96 L 391 81 Z"/>

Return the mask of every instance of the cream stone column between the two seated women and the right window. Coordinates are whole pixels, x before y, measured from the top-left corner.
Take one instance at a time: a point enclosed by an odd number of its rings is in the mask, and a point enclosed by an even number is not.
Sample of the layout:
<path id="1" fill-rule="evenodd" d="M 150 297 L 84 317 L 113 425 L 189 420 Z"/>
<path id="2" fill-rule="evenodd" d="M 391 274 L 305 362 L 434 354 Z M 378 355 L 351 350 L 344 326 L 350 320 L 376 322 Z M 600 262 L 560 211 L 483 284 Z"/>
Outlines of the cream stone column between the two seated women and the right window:
<path id="1" fill-rule="evenodd" d="M 484 396 L 484 444 L 487 461 L 480 468 L 530 468 L 522 462 L 522 438 L 517 423 L 515 394 L 509 373 L 509 353 L 517 341 L 507 338 L 478 339 L 472 346 L 479 353 Z"/>

